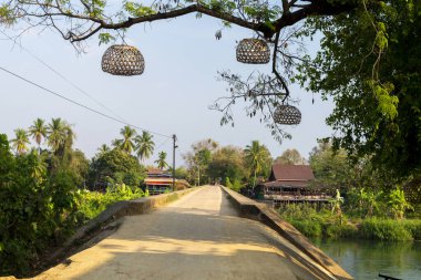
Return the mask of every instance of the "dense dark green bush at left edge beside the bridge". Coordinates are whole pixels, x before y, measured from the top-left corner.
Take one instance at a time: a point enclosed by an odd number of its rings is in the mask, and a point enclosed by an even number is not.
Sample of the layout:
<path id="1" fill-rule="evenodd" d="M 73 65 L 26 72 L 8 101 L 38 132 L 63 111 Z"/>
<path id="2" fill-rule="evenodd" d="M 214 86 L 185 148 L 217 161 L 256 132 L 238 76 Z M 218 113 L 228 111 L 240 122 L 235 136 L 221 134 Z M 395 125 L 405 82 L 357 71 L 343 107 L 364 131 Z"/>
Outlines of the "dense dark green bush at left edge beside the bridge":
<path id="1" fill-rule="evenodd" d="M 0 276 L 22 276 L 80 222 L 75 178 L 48 174 L 37 153 L 13 156 L 0 135 Z"/>

